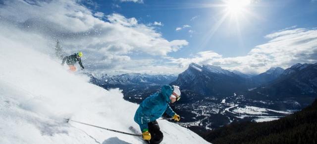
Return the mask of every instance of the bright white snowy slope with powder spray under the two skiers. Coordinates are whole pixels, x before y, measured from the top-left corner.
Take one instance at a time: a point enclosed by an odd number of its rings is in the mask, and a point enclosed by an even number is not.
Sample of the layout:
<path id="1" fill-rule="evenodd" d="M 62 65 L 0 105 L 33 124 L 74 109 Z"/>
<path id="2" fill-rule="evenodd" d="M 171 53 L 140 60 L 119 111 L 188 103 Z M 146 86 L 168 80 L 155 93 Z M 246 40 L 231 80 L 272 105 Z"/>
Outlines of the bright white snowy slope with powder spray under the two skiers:
<path id="1" fill-rule="evenodd" d="M 144 144 L 139 137 L 76 123 L 71 117 L 109 129 L 128 128 L 138 107 L 120 90 L 88 83 L 85 75 L 67 72 L 50 57 L 41 36 L 0 28 L 0 144 Z M 208 144 L 177 124 L 160 120 L 161 144 Z"/>

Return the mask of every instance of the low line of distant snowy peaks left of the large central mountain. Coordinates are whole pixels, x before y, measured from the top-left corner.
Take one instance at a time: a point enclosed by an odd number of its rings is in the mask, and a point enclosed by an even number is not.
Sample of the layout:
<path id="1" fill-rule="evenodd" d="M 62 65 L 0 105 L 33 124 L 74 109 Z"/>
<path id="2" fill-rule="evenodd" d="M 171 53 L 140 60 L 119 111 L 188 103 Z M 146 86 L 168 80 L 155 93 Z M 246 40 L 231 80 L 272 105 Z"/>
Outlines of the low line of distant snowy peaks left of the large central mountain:
<path id="1" fill-rule="evenodd" d="M 94 76 L 96 74 L 92 74 Z M 149 75 L 141 73 L 127 73 L 121 75 L 102 74 L 94 76 L 100 83 L 105 84 L 169 84 L 176 80 L 175 75 Z"/>

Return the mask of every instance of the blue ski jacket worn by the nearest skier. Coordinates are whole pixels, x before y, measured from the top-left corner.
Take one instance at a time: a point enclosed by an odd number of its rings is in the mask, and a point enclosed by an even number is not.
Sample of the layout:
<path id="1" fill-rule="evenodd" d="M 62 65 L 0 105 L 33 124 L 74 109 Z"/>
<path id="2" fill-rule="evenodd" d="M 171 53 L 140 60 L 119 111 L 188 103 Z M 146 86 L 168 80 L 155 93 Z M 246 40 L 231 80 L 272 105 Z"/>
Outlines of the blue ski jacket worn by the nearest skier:
<path id="1" fill-rule="evenodd" d="M 168 105 L 170 102 L 169 96 L 173 90 L 172 86 L 164 85 L 160 92 L 142 101 L 134 115 L 134 121 L 139 124 L 141 132 L 148 130 L 148 123 L 160 118 L 165 111 L 170 117 L 175 115 L 175 112 Z"/>

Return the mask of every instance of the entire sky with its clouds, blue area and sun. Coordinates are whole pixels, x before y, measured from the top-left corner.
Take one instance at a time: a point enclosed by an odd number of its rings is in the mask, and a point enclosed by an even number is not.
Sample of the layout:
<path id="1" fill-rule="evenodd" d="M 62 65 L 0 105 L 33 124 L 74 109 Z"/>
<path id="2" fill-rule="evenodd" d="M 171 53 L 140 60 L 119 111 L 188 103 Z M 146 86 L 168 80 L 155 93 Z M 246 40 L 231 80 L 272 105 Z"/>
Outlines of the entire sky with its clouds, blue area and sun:
<path id="1" fill-rule="evenodd" d="M 317 61 L 317 0 L 0 0 L 0 23 L 83 51 L 87 72 L 245 73 Z M 13 25 L 13 27 L 12 27 Z M 22 41 L 22 39 L 21 39 Z M 43 48 L 45 49 L 45 48 Z"/>

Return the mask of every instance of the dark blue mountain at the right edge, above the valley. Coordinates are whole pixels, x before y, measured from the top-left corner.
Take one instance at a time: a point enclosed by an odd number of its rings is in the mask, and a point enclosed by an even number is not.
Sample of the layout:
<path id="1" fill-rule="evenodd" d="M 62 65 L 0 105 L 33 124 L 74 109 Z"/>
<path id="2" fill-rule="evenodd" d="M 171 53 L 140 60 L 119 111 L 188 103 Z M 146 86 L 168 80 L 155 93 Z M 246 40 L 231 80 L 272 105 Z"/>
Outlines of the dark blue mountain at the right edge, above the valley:
<path id="1" fill-rule="evenodd" d="M 303 106 L 317 95 L 317 63 L 296 64 L 286 69 L 277 79 L 252 91 L 246 96 L 254 99 L 296 100 Z"/>

